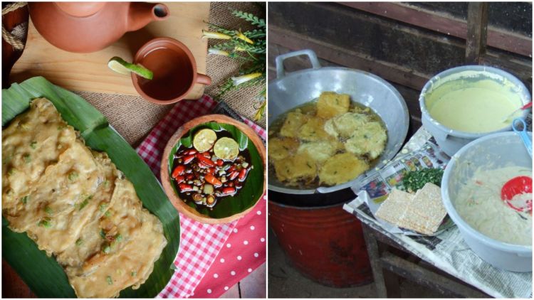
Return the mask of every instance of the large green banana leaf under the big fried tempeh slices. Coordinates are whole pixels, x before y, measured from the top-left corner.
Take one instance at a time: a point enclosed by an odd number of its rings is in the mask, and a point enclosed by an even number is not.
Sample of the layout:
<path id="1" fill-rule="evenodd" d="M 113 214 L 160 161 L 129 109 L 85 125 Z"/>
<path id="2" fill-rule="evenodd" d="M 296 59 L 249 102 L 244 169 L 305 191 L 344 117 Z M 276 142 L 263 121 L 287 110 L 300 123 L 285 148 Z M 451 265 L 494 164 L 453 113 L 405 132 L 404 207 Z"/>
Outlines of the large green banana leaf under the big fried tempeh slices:
<path id="1" fill-rule="evenodd" d="M 124 289 L 120 297 L 154 297 L 169 282 L 177 255 L 180 223 L 177 210 L 172 206 L 154 173 L 137 155 L 122 136 L 109 126 L 108 120 L 95 107 L 73 92 L 53 85 L 43 77 L 33 77 L 20 85 L 13 84 L 2 90 L 2 127 L 29 107 L 31 100 L 46 97 L 53 102 L 61 117 L 81 133 L 91 149 L 105 151 L 113 163 L 135 186 L 145 208 L 157 215 L 163 223 L 167 246 L 155 262 L 154 271 L 139 289 Z M 75 297 L 65 272 L 53 257 L 38 250 L 26 233 L 9 229 L 2 218 L 2 256 L 39 297 Z"/>

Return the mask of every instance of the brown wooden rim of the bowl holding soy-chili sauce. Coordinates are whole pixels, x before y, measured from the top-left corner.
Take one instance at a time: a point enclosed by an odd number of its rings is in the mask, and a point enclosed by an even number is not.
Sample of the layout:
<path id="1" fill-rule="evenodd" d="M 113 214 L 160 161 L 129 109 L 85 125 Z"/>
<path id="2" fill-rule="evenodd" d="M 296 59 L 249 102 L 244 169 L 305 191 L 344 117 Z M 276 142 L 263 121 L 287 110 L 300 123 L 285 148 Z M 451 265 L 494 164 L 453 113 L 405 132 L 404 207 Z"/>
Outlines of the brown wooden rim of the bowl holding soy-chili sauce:
<path id="1" fill-rule="evenodd" d="M 256 146 L 256 149 L 258 150 L 258 154 L 260 155 L 261 161 L 263 163 L 263 192 L 259 195 L 258 199 L 256 199 L 256 202 L 254 205 L 251 206 L 251 208 L 248 208 L 241 213 L 236 213 L 234 215 L 231 215 L 226 218 L 211 218 L 208 215 L 204 215 L 199 213 L 196 209 L 192 208 L 191 206 L 187 205 L 187 203 L 184 202 L 181 198 L 179 198 L 179 195 L 174 191 L 174 188 L 172 188 L 172 182 L 169 175 L 169 154 L 172 151 L 172 148 L 177 144 L 179 139 L 182 139 L 182 136 L 189 133 L 191 129 L 196 127 L 197 125 L 204 124 L 207 122 L 217 122 L 221 124 L 231 124 L 234 125 L 237 129 L 239 129 L 241 132 L 246 134 L 248 136 L 248 140 L 252 141 L 254 146 Z M 163 152 L 163 159 L 162 159 L 162 165 L 161 165 L 161 179 L 162 179 L 162 185 L 165 193 L 167 193 L 167 196 L 169 196 L 169 200 L 171 201 L 172 205 L 174 205 L 174 208 L 176 208 L 180 213 L 183 213 L 189 218 L 192 218 L 193 220 L 197 220 L 201 223 L 207 223 L 207 224 L 224 224 L 224 223 L 230 223 L 234 220 L 237 220 L 239 218 L 244 217 L 249 211 L 251 211 L 254 206 L 258 203 L 258 200 L 262 197 L 262 195 L 266 191 L 266 149 L 265 146 L 263 146 L 263 141 L 261 138 L 256 134 L 256 132 L 251 129 L 251 127 L 248 127 L 246 124 L 236 121 L 235 119 L 232 119 L 231 117 L 226 117 L 223 114 L 208 114 L 202 117 L 197 117 L 195 119 L 192 119 L 191 121 L 184 124 L 182 127 L 180 127 L 177 132 L 175 132 L 172 137 L 167 142 L 167 146 L 165 146 L 165 150 Z"/>

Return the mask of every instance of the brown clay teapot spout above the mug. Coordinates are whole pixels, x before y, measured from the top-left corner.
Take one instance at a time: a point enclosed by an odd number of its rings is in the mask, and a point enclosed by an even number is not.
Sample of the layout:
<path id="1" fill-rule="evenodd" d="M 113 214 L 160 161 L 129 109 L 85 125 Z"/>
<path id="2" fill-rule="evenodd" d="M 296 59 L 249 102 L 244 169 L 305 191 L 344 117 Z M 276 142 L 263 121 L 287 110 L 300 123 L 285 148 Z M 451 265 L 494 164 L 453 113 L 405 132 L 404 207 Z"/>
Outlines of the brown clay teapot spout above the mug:
<path id="1" fill-rule="evenodd" d="M 128 31 L 136 31 L 152 21 L 162 21 L 169 17 L 169 8 L 165 4 L 132 2 L 128 12 Z"/>

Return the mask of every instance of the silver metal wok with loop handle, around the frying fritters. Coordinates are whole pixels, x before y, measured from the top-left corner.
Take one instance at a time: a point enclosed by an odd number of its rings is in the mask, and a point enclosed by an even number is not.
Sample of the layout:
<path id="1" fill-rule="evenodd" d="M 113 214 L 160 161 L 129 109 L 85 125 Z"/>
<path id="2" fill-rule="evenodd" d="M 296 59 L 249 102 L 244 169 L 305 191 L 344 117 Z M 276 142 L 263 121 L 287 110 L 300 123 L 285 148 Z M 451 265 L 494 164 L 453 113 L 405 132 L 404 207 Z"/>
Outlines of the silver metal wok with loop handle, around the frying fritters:
<path id="1" fill-rule="evenodd" d="M 283 68 L 283 61 L 298 55 L 307 55 L 312 68 L 286 73 Z M 409 125 L 406 102 L 399 92 L 382 78 L 350 68 L 322 68 L 317 55 L 312 50 L 299 50 L 279 55 L 276 58 L 276 76 L 276 80 L 269 82 L 268 85 L 269 126 L 278 119 L 278 116 L 288 112 L 288 110 L 318 98 L 321 92 L 333 91 L 350 95 L 352 101 L 370 107 L 384 121 L 387 127 L 387 145 L 375 167 L 383 166 L 384 162 L 392 159 L 402 147 Z M 366 173 L 363 173 L 354 180 L 337 186 L 298 189 L 284 185 L 271 171 L 268 174 L 268 188 L 270 191 L 277 192 L 273 193 L 274 195 L 289 194 L 288 196 L 296 200 L 296 198 L 302 198 L 301 196 L 317 193 L 339 195 L 342 190 L 347 188 L 357 191 L 360 189 L 360 182 L 365 177 Z M 328 203 L 334 204 L 346 200 L 351 199 L 330 199 Z"/>

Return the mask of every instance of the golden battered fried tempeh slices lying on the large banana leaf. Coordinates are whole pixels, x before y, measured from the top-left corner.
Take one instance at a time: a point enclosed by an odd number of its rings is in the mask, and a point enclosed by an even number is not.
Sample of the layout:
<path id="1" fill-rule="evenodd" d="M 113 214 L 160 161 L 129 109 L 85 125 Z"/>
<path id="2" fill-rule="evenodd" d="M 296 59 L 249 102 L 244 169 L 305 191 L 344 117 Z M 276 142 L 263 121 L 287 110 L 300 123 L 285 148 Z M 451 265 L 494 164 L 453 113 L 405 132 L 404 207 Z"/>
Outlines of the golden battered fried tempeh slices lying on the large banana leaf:
<path id="1" fill-rule="evenodd" d="M 79 297 L 139 288 L 167 240 L 108 155 L 90 151 L 51 102 L 2 131 L 2 214 L 66 269 Z"/>

